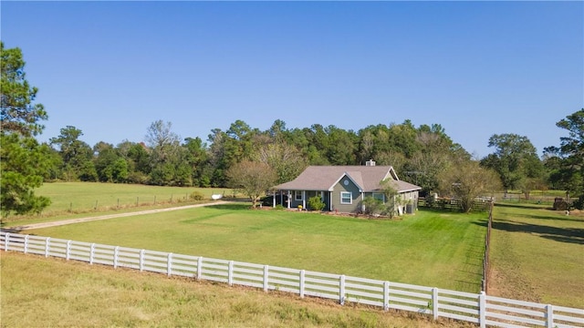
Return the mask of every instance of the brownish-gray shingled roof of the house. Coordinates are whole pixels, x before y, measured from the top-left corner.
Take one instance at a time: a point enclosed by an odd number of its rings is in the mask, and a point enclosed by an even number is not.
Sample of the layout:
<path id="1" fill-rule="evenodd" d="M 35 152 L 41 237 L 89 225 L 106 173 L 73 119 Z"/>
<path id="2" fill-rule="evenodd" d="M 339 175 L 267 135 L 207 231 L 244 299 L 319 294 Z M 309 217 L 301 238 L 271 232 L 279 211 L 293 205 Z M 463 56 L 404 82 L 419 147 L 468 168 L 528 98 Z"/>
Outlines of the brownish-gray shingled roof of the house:
<path id="1" fill-rule="evenodd" d="M 279 184 L 276 190 L 332 190 L 343 177 L 348 176 L 362 192 L 381 190 L 381 180 L 393 179 L 398 192 L 421 190 L 401 181 L 391 166 L 309 166 L 297 179 Z"/>

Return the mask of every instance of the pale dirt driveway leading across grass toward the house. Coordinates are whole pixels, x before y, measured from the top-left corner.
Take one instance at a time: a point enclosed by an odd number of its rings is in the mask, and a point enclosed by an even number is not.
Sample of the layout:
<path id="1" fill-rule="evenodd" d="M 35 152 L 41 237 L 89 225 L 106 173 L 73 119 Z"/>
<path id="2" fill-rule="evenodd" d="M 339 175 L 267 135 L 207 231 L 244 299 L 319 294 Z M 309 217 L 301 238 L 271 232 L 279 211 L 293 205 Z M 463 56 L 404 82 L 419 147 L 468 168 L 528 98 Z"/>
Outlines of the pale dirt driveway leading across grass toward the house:
<path id="1" fill-rule="evenodd" d="M 66 225 L 66 224 L 87 222 L 87 221 L 91 221 L 91 220 L 108 220 L 108 219 L 123 218 L 123 217 L 135 216 L 135 215 L 160 213 L 160 212 L 171 211 L 171 210 L 187 210 L 187 209 L 193 209 L 193 208 L 198 208 L 198 207 L 203 207 L 203 206 L 214 206 L 214 205 L 221 205 L 221 204 L 227 204 L 227 203 L 230 203 L 230 201 L 216 200 L 216 201 L 211 202 L 211 203 L 177 206 L 177 207 L 172 207 L 172 208 L 167 208 L 167 209 L 140 210 L 140 211 L 135 211 L 135 212 L 100 215 L 100 216 L 88 217 L 88 218 L 33 223 L 33 224 L 27 224 L 24 226 L 5 228 L 5 229 L 2 229 L 2 231 L 19 232 L 19 231 L 26 231 L 26 230 L 31 230 L 31 229 L 43 229 L 43 228 L 57 227 L 57 226 L 62 226 L 62 225 Z"/>

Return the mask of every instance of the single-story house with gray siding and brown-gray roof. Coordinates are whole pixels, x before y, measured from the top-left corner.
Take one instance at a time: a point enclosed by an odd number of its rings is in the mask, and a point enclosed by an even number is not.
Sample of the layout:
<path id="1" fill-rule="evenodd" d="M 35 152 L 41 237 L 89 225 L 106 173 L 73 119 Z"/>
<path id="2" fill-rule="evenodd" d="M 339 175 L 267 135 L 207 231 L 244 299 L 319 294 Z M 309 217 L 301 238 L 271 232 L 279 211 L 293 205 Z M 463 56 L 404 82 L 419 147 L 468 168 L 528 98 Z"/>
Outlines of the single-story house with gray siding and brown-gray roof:
<path id="1" fill-rule="evenodd" d="M 308 199 L 314 196 L 326 204 L 324 210 L 354 213 L 364 210 L 362 200 L 373 197 L 387 202 L 381 181 L 391 179 L 391 187 L 397 190 L 400 202 L 398 213 L 413 212 L 418 203 L 421 187 L 402 181 L 391 166 L 376 166 L 373 160 L 365 166 L 309 166 L 296 179 L 272 188 L 280 200 L 273 200 L 284 207 L 307 208 Z M 283 199 L 287 195 L 287 200 Z M 406 206 L 411 204 L 411 206 Z"/>

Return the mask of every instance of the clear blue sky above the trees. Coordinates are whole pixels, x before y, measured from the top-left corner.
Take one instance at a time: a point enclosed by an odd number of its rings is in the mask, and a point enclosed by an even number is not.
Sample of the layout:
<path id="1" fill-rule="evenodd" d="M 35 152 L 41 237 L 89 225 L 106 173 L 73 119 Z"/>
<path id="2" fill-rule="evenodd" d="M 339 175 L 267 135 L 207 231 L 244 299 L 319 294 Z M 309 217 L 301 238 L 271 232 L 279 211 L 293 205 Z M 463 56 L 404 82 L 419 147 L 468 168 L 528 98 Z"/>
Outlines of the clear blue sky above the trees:
<path id="1" fill-rule="evenodd" d="M 440 124 L 477 157 L 515 133 L 539 154 L 584 107 L 584 2 L 10 2 L 47 108 L 39 139 L 140 142 L 152 122 L 207 136 L 237 119 Z"/>

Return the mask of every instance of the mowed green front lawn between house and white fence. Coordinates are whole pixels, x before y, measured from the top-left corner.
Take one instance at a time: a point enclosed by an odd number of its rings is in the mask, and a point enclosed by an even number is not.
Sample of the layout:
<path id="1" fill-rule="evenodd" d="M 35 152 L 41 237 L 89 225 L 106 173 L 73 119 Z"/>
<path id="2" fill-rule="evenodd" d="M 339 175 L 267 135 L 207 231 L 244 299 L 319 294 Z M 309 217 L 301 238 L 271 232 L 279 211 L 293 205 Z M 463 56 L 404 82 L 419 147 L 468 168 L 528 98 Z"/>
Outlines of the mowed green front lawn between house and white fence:
<path id="1" fill-rule="evenodd" d="M 478 292 L 485 220 L 425 210 L 365 220 L 235 203 L 26 233 Z"/>

